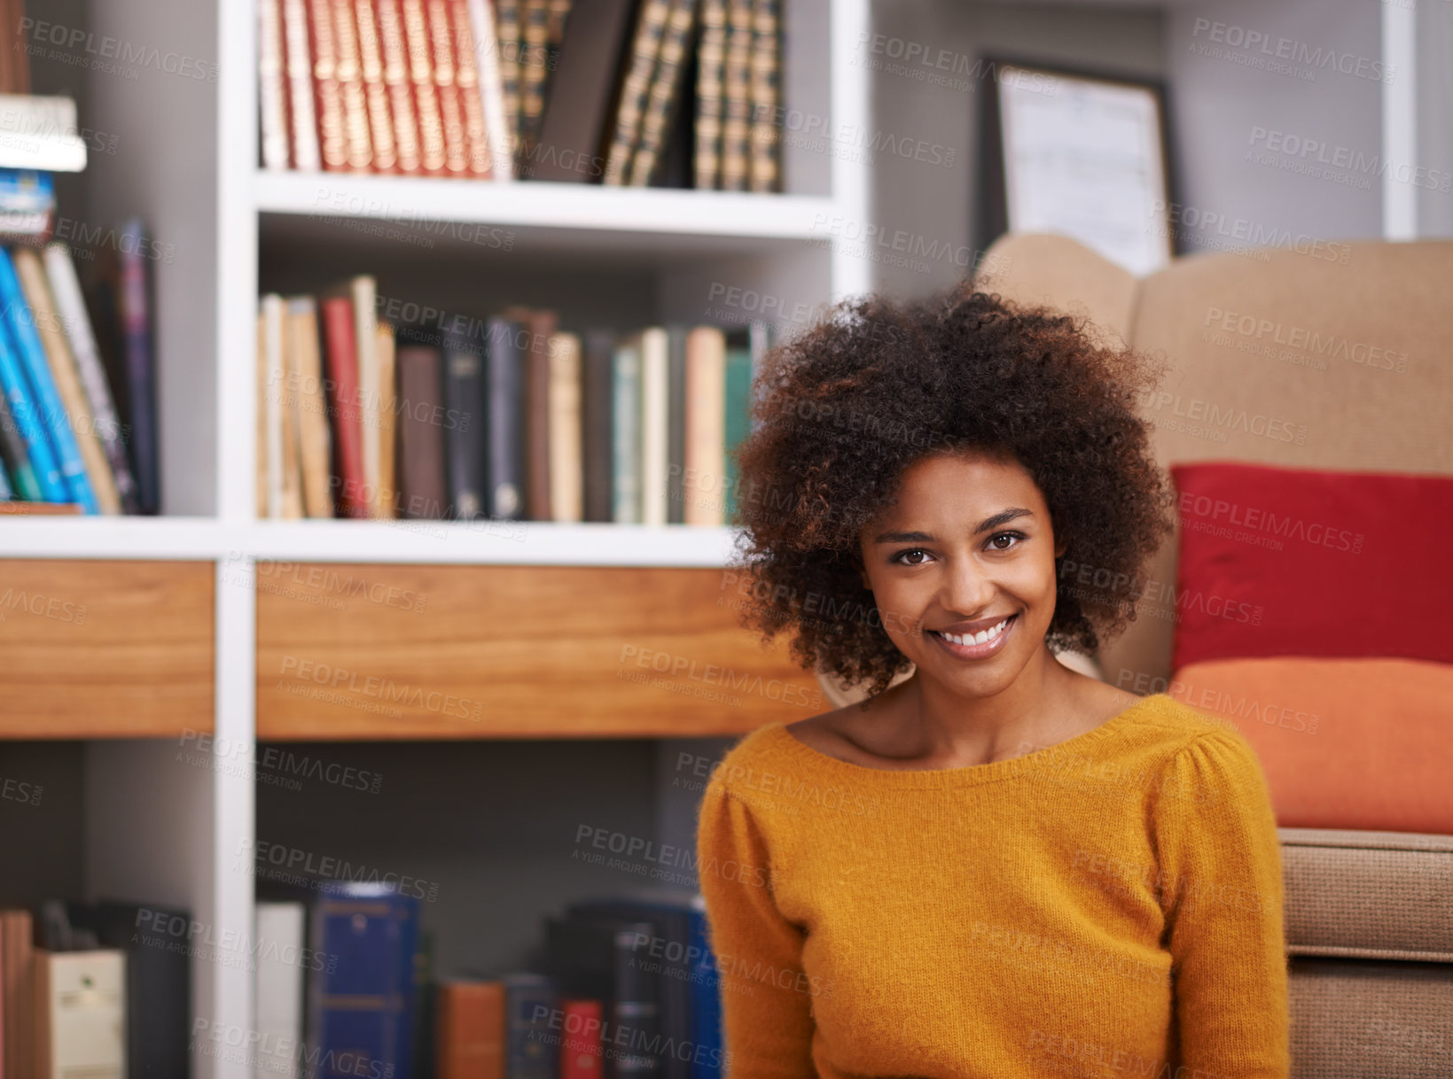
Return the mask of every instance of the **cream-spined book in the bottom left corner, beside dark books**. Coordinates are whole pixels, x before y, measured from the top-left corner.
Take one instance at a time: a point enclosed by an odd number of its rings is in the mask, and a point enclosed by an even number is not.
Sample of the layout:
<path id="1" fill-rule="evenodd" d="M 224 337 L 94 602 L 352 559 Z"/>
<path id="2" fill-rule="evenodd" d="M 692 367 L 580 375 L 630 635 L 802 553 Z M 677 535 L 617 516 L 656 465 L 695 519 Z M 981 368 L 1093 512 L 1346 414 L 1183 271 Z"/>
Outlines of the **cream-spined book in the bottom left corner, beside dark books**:
<path id="1" fill-rule="evenodd" d="M 115 948 L 46 951 L 35 964 L 36 1079 L 124 1079 L 126 957 Z M 185 1047 L 185 1041 L 182 1043 Z"/>

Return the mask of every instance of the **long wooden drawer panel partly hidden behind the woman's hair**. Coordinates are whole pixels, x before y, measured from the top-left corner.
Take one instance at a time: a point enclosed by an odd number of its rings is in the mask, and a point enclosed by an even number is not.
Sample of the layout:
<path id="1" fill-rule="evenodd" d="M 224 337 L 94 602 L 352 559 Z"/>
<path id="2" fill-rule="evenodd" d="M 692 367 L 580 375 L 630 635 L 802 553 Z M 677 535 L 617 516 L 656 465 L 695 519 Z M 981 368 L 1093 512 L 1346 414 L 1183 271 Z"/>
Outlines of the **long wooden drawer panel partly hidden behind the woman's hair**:
<path id="1" fill-rule="evenodd" d="M 257 738 L 731 735 L 825 710 L 721 569 L 259 566 Z"/>

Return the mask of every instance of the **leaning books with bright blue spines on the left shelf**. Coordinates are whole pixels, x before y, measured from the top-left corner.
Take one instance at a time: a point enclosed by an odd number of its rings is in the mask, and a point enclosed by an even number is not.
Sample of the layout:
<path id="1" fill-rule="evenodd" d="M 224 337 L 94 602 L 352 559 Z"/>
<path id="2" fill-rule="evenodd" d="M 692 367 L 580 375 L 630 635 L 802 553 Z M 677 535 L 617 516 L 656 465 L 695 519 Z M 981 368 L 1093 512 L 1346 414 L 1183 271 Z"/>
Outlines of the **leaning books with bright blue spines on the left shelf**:
<path id="1" fill-rule="evenodd" d="M 138 221 L 110 235 L 89 290 L 65 244 L 0 250 L 0 500 L 17 508 L 158 511 L 151 247 Z"/>

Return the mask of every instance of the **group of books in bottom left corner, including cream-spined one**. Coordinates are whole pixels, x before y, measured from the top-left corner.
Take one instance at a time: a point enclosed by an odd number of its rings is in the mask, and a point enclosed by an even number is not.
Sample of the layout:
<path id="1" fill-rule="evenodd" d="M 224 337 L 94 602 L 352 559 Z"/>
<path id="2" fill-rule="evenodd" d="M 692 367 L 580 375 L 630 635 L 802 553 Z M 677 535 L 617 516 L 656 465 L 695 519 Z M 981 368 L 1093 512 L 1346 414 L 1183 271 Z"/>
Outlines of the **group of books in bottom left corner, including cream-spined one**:
<path id="1" fill-rule="evenodd" d="M 196 928 L 137 903 L 0 911 L 4 1075 L 187 1079 Z"/>

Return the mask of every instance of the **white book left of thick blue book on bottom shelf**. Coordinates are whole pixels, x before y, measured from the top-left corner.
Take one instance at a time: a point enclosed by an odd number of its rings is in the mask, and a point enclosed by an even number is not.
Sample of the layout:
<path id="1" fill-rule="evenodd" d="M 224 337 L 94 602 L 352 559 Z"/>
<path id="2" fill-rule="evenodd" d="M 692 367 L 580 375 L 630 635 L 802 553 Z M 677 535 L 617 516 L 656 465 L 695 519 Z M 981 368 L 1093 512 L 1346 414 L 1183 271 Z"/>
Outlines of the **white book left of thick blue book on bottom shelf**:
<path id="1" fill-rule="evenodd" d="M 299 902 L 259 900 L 254 918 L 257 969 L 253 979 L 253 1017 L 257 1030 L 254 1079 L 273 1079 L 292 1070 L 292 1056 L 302 1043 L 304 973 L 308 911 Z M 317 958 L 323 958 L 321 956 Z"/>

